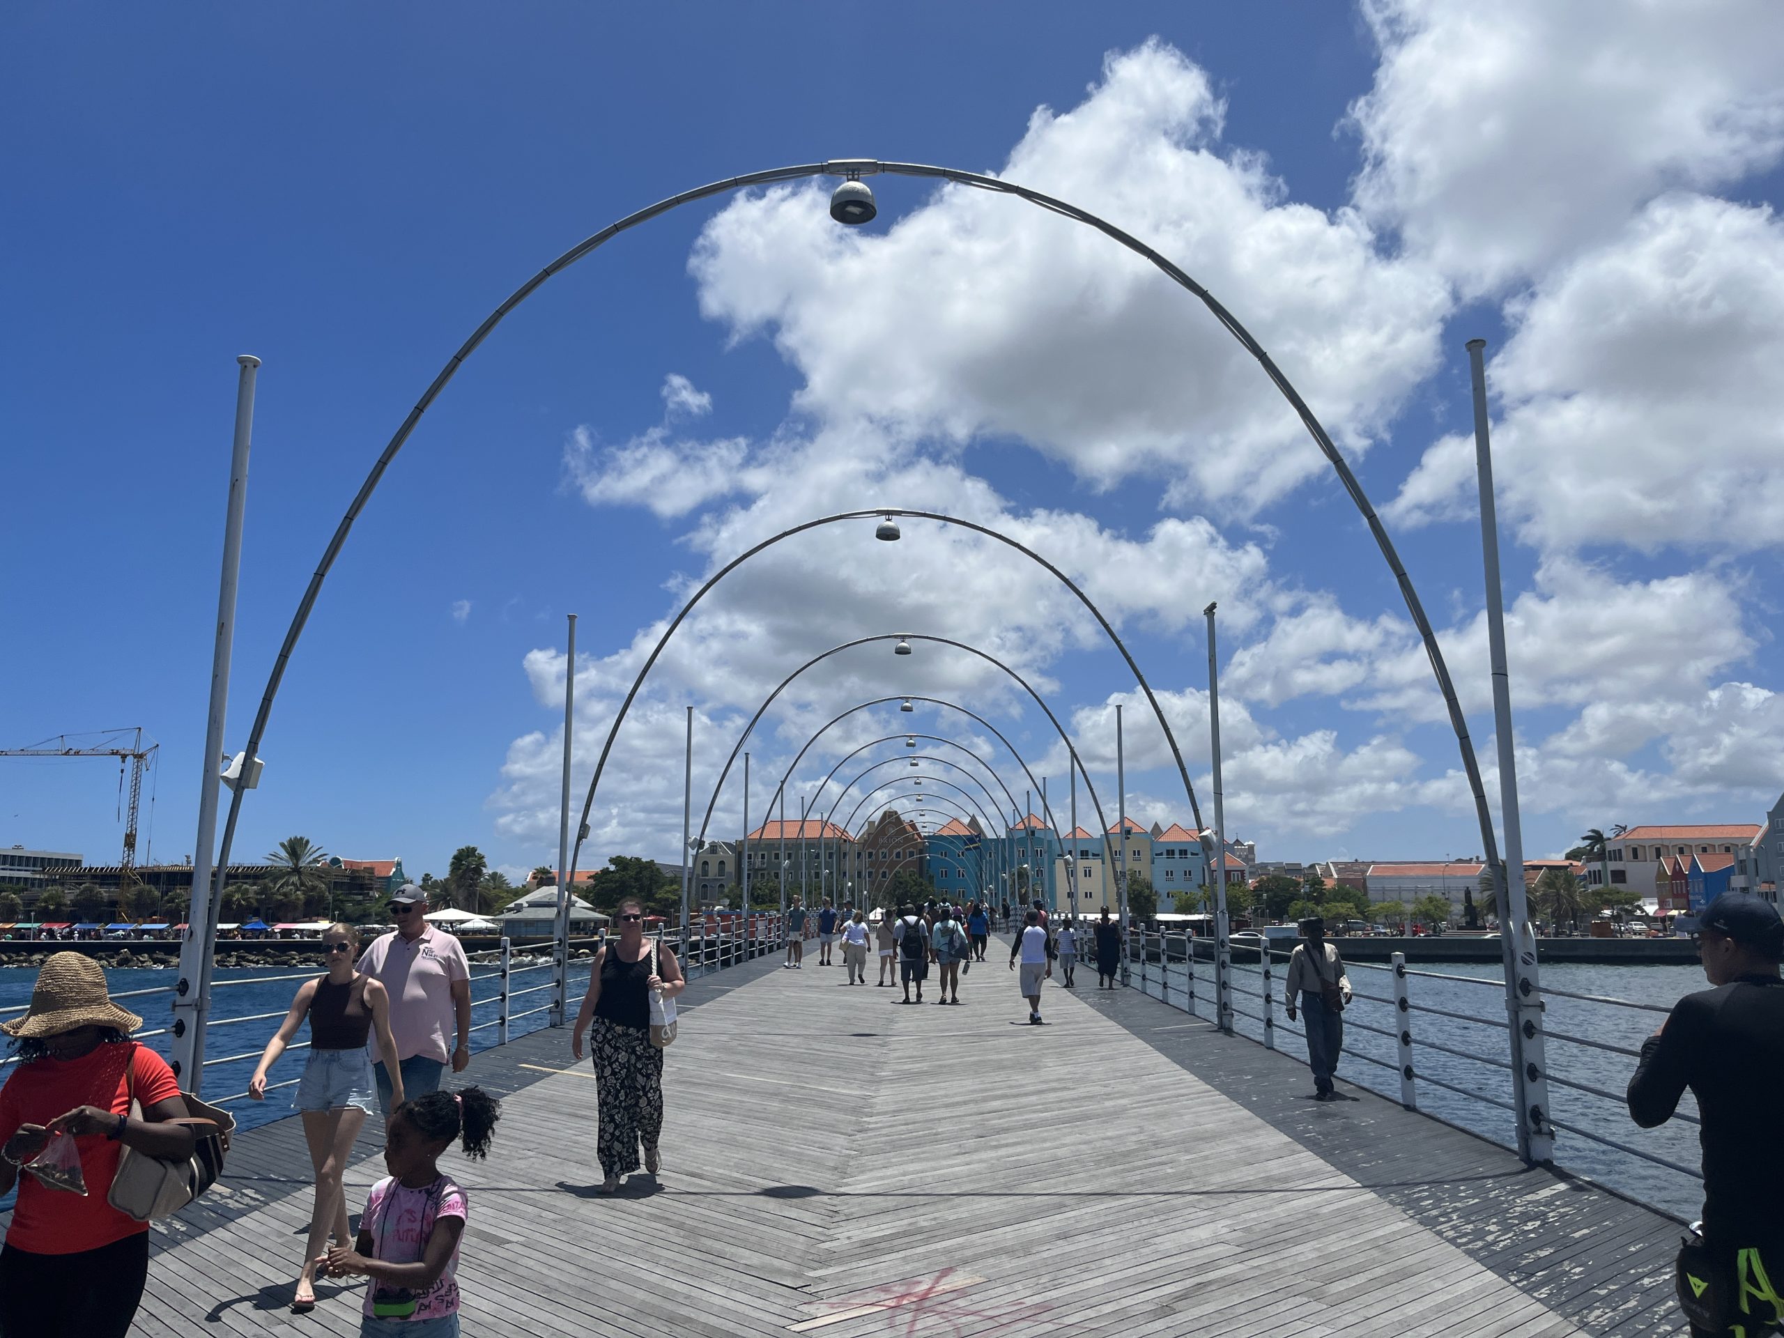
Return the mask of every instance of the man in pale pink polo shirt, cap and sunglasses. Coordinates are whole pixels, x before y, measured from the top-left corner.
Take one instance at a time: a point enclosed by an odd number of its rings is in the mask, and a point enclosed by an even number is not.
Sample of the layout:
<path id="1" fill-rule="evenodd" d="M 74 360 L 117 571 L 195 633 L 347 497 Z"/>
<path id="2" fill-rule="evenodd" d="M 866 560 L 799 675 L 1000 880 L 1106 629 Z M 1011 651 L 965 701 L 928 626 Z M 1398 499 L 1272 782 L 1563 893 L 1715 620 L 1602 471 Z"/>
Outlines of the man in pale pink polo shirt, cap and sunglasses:
<path id="1" fill-rule="evenodd" d="M 378 1079 L 378 1104 L 391 1113 L 391 1074 L 396 1063 L 403 1074 L 403 1095 L 439 1092 L 441 1070 L 464 1072 L 471 1063 L 471 963 L 464 946 L 423 919 L 428 894 L 414 883 L 396 888 L 391 915 L 396 931 L 373 940 L 359 958 L 359 969 L 376 976 L 391 995 L 391 1040 L 396 1054 L 380 1054 L 373 1065 Z M 457 1029 L 457 1049 L 446 1037 Z"/>

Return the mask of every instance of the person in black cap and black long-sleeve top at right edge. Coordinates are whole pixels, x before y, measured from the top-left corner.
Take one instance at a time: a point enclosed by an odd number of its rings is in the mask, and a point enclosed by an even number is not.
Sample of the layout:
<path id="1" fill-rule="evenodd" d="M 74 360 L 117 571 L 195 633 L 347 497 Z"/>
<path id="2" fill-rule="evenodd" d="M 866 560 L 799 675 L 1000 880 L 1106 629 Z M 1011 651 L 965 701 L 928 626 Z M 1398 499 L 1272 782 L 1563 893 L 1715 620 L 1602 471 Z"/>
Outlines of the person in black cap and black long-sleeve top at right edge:
<path id="1" fill-rule="evenodd" d="M 1679 1254 L 1681 1301 L 1697 1338 L 1761 1338 L 1784 1329 L 1784 921 L 1725 892 L 1698 917 L 1697 942 L 1714 988 L 1681 999 L 1641 1045 L 1629 1115 L 1652 1129 L 1688 1086 L 1697 1095 L 1702 1247 L 1688 1238 Z"/>

